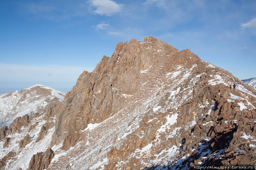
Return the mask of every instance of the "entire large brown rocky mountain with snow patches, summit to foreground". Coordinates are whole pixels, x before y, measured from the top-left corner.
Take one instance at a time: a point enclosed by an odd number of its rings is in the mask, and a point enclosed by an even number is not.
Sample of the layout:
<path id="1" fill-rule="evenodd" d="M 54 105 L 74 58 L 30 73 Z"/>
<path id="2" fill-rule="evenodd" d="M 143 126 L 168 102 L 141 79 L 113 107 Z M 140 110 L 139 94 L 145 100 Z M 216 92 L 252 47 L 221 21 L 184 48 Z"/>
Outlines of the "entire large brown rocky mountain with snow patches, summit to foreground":
<path id="1" fill-rule="evenodd" d="M 21 126 L 26 135 L 18 130 L 0 141 L 2 168 L 254 164 L 255 107 L 252 87 L 189 49 L 154 37 L 119 42 L 62 102 Z"/>

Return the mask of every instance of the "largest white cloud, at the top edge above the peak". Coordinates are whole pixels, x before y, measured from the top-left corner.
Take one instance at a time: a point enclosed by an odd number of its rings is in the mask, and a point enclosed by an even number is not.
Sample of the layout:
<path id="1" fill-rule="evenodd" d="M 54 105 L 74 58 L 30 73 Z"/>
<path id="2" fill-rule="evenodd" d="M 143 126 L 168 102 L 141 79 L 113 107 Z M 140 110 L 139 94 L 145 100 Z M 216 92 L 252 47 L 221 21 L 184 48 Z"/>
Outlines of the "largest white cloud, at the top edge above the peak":
<path id="1" fill-rule="evenodd" d="M 111 16 L 116 12 L 121 11 L 122 4 L 116 4 L 110 0 L 91 0 L 92 6 L 96 8 L 93 11 L 95 14 Z"/>

